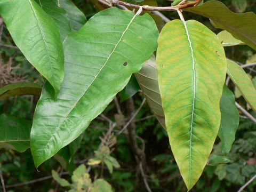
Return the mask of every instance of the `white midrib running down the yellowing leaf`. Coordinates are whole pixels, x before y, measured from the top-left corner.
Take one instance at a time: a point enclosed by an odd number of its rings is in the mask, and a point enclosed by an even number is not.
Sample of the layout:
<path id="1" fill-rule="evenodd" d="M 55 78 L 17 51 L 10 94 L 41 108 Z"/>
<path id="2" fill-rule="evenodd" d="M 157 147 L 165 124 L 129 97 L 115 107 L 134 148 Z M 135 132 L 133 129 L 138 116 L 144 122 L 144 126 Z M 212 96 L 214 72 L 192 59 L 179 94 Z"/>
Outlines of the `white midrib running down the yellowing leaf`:
<path id="1" fill-rule="evenodd" d="M 195 94 L 196 94 L 196 85 L 195 85 L 195 81 L 196 81 L 196 74 L 195 74 L 195 59 L 194 59 L 194 51 L 193 51 L 193 47 L 191 44 L 191 39 L 188 33 L 188 28 L 187 28 L 187 24 L 186 21 L 183 21 L 185 29 L 186 29 L 186 34 L 188 37 L 188 42 L 189 42 L 189 47 L 191 50 L 191 57 L 192 57 L 192 62 L 193 62 L 193 103 L 192 103 L 192 114 L 191 114 L 191 125 L 190 125 L 190 144 L 189 144 L 189 184 L 188 186 L 190 186 L 190 180 L 191 180 L 191 154 L 192 154 L 192 131 L 193 131 L 193 122 L 194 122 L 194 109 L 195 109 Z"/>

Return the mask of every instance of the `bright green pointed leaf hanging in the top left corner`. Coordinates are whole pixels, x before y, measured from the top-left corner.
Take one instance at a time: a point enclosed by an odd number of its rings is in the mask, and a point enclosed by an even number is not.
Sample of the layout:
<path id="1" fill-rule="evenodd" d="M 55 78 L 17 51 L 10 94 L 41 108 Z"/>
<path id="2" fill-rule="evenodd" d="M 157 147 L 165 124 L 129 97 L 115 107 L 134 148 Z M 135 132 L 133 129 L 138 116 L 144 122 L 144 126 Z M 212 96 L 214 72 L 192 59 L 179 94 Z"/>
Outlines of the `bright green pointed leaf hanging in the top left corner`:
<path id="1" fill-rule="evenodd" d="M 15 44 L 57 95 L 64 77 L 64 57 L 54 20 L 34 0 L 1 2 L 0 14 Z"/>

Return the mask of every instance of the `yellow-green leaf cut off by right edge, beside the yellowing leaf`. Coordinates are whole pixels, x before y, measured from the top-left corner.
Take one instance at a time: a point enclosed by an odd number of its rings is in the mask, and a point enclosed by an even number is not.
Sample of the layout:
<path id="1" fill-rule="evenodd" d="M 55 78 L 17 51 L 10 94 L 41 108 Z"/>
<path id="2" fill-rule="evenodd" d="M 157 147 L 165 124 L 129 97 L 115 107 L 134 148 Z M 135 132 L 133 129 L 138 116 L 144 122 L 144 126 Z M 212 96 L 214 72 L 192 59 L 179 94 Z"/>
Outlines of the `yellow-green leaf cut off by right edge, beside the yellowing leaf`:
<path id="1" fill-rule="evenodd" d="M 256 112 L 256 90 L 244 69 L 234 61 L 227 59 L 227 73 L 249 106 Z"/>

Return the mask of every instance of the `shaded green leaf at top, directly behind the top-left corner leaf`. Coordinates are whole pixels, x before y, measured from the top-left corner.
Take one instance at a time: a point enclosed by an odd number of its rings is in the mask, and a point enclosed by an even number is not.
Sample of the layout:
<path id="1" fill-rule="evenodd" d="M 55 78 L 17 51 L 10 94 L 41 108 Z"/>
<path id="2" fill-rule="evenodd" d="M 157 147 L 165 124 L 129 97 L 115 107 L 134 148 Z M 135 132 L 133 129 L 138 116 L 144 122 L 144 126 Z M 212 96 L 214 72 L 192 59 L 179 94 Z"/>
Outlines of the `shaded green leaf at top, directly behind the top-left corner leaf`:
<path id="1" fill-rule="evenodd" d="M 53 0 L 36 0 L 36 2 L 54 19 L 60 30 L 61 42 L 63 42 L 71 32 L 66 10 L 59 7 Z"/>

